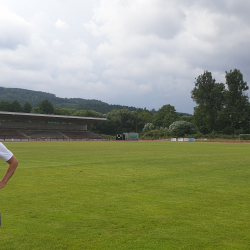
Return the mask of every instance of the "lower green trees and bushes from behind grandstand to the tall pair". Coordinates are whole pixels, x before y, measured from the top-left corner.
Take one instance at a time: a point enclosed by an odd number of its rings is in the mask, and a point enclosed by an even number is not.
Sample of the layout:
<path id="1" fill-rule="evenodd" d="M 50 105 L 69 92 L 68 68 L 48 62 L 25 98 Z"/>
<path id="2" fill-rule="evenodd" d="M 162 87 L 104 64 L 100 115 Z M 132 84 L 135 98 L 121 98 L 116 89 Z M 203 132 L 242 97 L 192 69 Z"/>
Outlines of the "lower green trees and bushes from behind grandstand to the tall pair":
<path id="1" fill-rule="evenodd" d="M 91 125 L 91 130 L 101 134 L 116 135 L 125 132 L 146 133 L 152 130 L 166 130 L 175 121 L 188 122 L 192 120 L 192 116 L 177 113 L 174 106 L 170 104 L 164 105 L 158 111 L 151 112 L 144 109 L 130 111 L 124 109 L 114 109 L 107 114 L 102 114 L 94 110 L 77 110 L 67 108 L 55 108 L 48 100 L 43 100 L 36 107 L 32 107 L 29 102 L 25 102 L 22 106 L 17 100 L 13 102 L 1 101 L 1 111 L 9 112 L 25 112 L 35 114 L 54 114 L 64 116 L 82 116 L 82 117 L 99 117 L 107 118 L 107 121 L 98 122 Z M 191 127 L 193 124 L 188 122 Z"/>

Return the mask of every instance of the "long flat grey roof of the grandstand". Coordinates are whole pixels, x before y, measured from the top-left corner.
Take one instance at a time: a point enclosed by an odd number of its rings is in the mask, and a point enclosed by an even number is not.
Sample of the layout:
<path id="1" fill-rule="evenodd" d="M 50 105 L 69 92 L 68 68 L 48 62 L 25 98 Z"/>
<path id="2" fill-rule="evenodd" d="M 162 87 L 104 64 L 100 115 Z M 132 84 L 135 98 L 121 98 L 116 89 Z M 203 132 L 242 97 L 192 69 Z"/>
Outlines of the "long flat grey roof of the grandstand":
<path id="1" fill-rule="evenodd" d="M 0 120 L 67 122 L 67 123 L 77 123 L 77 124 L 90 124 L 90 123 L 95 123 L 99 121 L 106 121 L 107 119 L 96 118 L 96 117 L 44 115 L 44 114 L 0 111 Z"/>

